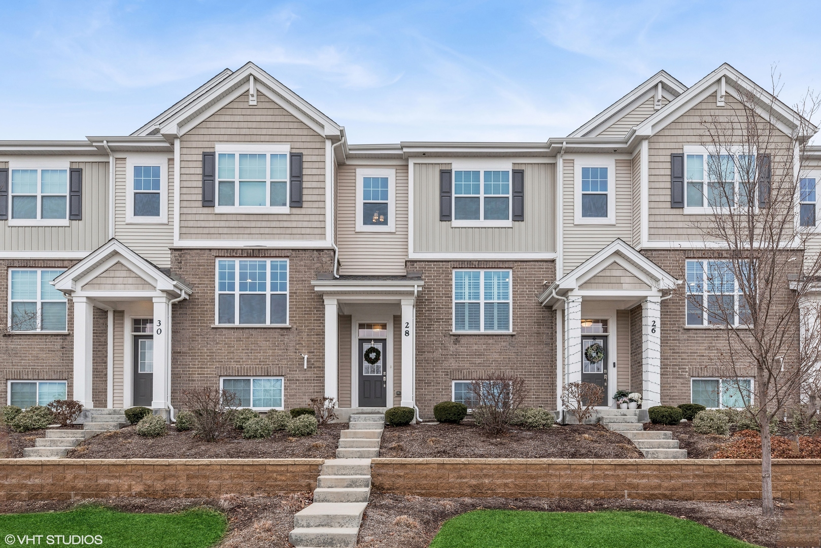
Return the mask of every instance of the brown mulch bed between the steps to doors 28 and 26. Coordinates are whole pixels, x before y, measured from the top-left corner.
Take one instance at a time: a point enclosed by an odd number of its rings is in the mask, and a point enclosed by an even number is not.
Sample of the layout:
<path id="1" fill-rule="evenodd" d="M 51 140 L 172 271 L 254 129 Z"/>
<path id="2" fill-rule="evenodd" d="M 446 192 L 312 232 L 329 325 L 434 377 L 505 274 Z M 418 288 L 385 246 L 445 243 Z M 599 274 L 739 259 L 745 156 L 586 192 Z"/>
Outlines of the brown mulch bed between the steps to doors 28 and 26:
<path id="1" fill-rule="evenodd" d="M 621 434 L 599 425 L 553 426 L 487 435 L 468 424 L 385 426 L 383 458 L 644 458 Z"/>

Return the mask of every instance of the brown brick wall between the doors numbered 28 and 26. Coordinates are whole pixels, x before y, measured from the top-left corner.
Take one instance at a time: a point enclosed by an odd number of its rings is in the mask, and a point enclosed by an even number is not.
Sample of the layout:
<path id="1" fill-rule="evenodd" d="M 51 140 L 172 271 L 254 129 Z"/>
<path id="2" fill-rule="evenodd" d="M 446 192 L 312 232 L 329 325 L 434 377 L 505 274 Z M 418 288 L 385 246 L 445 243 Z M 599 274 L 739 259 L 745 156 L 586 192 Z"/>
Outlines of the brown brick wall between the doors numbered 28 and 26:
<path id="1" fill-rule="evenodd" d="M 452 335 L 453 269 L 511 269 L 515 335 Z M 452 380 L 481 379 L 493 371 L 525 377 L 525 405 L 556 408 L 556 314 L 539 304 L 553 261 L 407 261 L 422 273 L 416 301 L 416 405 L 433 417 L 436 403 L 452 398 Z"/>

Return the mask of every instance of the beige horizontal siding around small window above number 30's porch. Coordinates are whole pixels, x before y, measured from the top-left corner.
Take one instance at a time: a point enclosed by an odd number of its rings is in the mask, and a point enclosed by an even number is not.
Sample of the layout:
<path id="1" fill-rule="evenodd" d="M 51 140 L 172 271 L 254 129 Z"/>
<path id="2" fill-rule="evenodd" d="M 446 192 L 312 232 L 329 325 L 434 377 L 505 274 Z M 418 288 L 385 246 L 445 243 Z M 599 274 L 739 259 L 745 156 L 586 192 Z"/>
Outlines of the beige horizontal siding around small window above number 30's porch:
<path id="1" fill-rule="evenodd" d="M 171 267 L 171 251 L 174 243 L 174 159 L 168 159 L 168 222 L 165 224 L 126 224 L 126 159 L 114 159 L 114 234 L 131 250 L 150 260 L 160 268 Z"/>

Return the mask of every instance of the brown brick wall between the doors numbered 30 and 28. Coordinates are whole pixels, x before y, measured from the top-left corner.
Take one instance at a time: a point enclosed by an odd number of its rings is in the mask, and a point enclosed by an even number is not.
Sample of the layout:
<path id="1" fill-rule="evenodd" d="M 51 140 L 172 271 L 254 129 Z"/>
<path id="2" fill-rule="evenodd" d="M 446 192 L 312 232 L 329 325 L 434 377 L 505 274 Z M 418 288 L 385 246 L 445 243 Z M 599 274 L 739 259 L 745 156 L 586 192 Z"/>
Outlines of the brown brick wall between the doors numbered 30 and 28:
<path id="1" fill-rule="evenodd" d="M 289 260 L 290 328 L 213 328 L 215 260 L 277 258 Z M 333 268 L 328 250 L 174 249 L 172 270 L 193 290 L 174 305 L 172 317 L 172 404 L 181 406 L 182 391 L 218 387 L 220 376 L 285 377 L 285 408 L 308 405 L 324 392 L 325 306 L 310 282 Z M 300 352 L 308 354 L 303 369 Z"/>

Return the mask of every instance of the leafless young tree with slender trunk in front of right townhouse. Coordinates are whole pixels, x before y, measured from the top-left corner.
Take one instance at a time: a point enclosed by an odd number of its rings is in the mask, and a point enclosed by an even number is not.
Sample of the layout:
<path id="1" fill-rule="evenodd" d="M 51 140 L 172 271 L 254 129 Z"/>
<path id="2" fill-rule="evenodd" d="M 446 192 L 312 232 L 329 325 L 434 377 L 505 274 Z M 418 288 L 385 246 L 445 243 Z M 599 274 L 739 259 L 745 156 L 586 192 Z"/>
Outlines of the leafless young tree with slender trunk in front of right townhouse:
<path id="1" fill-rule="evenodd" d="M 688 263 L 688 324 L 724 338 L 718 361 L 736 380 L 720 387 L 716 403 L 754 412 L 760 426 L 764 516 L 774 513 L 769 423 L 802 392 L 817 407 L 821 356 L 811 296 L 821 280 L 815 211 L 800 205 L 814 201 L 802 159 L 819 100 L 808 92 L 786 117 L 779 79 L 773 71 L 770 93 L 736 86 L 737 100 L 701 118 L 707 154 L 681 166 L 686 199 L 707 211 L 694 223 L 707 249 L 703 261 Z"/>

